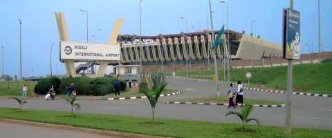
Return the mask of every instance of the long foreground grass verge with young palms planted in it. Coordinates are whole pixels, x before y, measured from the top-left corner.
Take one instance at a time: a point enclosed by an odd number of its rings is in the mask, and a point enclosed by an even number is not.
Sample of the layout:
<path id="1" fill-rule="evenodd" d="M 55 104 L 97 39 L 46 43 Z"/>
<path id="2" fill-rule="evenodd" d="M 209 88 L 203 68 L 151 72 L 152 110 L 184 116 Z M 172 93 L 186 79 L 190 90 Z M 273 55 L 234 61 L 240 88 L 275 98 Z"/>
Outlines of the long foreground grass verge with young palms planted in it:
<path id="1" fill-rule="evenodd" d="M 154 126 L 145 124 L 151 122 L 151 118 L 147 117 L 75 113 L 77 116 L 72 118 L 71 112 L 50 110 L 24 110 L 20 112 L 15 108 L 0 108 L 0 112 L 0 118 L 6 119 L 37 121 L 49 124 L 62 124 L 164 137 L 284 137 L 284 128 L 275 126 L 248 126 L 248 128 L 255 129 L 256 132 L 242 133 L 234 132 L 235 128 L 241 127 L 240 124 L 224 124 L 208 121 L 156 119 L 160 124 Z M 292 128 L 292 137 L 332 137 L 332 130 Z"/>

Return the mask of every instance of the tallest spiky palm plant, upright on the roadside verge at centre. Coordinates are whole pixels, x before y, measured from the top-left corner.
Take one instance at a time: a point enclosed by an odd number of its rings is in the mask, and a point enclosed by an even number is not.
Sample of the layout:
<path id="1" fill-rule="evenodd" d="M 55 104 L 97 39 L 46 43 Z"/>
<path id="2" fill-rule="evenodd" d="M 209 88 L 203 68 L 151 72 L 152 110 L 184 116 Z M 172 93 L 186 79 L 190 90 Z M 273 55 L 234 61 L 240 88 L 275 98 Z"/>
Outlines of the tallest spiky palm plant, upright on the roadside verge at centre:
<path id="1" fill-rule="evenodd" d="M 141 81 L 139 83 L 139 91 L 144 93 L 147 96 L 147 99 L 149 99 L 152 108 L 152 121 L 156 124 L 154 121 L 154 110 L 156 109 L 156 103 L 160 93 L 164 90 L 167 82 L 165 82 L 165 75 L 163 72 L 153 72 L 150 77 L 148 77 L 149 85 L 145 81 L 145 77 L 145 73 L 143 72 L 143 74 L 140 75 Z"/>

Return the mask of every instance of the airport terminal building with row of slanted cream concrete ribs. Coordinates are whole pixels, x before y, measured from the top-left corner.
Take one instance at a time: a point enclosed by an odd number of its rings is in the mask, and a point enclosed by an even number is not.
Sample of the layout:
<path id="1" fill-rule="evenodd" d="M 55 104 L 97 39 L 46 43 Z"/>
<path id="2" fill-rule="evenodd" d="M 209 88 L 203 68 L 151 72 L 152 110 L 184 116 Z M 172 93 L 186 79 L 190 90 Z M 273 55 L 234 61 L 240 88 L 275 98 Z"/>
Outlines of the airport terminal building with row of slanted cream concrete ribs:
<path id="1" fill-rule="evenodd" d="M 214 31 L 214 37 L 219 31 Z M 266 41 L 245 32 L 225 30 L 226 41 L 224 46 L 219 46 L 216 58 L 221 63 L 224 56 L 228 57 L 227 37 L 230 37 L 230 55 L 232 60 L 262 59 L 282 57 L 282 46 L 271 41 Z M 186 37 L 187 36 L 187 37 Z M 190 60 L 191 68 L 213 68 L 212 35 L 211 31 L 201 30 L 185 34 L 159 34 L 158 36 L 119 35 L 118 43 L 121 46 L 121 63 L 123 65 L 140 64 L 140 50 L 142 66 L 145 71 L 158 70 L 160 61 L 164 61 L 165 71 L 185 70 L 186 60 Z M 140 46 L 141 45 L 141 46 Z M 209 52 L 210 51 L 210 52 Z M 189 56 L 187 56 L 189 53 Z M 163 55 L 163 56 L 160 56 Z M 188 59 L 190 58 L 190 59 Z"/>

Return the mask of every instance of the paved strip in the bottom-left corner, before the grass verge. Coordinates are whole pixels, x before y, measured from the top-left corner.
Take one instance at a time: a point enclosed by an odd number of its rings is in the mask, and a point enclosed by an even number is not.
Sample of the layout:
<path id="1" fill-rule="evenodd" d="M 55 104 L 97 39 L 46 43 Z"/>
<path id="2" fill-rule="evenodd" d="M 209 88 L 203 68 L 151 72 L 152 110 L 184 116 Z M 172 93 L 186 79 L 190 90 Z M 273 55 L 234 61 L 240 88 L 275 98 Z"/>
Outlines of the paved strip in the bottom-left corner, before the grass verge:
<path id="1" fill-rule="evenodd" d="M 24 124 L 13 124 L 0 121 L 0 134 L 1 137 L 10 138 L 59 138 L 59 137 L 80 137 L 80 138 L 120 138 L 120 137 L 107 137 L 103 135 L 94 134 L 91 132 L 62 130 L 56 128 L 47 128 L 41 126 L 30 126 Z"/>

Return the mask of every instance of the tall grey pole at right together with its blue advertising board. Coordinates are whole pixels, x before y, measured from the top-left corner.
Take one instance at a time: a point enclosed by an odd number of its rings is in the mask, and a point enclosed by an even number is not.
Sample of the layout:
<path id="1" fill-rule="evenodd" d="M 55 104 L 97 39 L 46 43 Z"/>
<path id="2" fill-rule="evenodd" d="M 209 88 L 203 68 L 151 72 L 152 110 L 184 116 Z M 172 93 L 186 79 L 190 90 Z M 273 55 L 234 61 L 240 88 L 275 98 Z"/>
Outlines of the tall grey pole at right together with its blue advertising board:
<path id="1" fill-rule="evenodd" d="M 286 122 L 285 135 L 291 135 L 291 95 L 293 93 L 293 59 L 298 60 L 300 52 L 299 41 L 299 12 L 293 10 L 293 0 L 290 0 L 290 7 L 283 10 L 283 58 L 288 59 L 287 72 L 287 97 L 286 97 Z"/>

